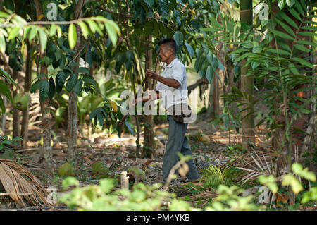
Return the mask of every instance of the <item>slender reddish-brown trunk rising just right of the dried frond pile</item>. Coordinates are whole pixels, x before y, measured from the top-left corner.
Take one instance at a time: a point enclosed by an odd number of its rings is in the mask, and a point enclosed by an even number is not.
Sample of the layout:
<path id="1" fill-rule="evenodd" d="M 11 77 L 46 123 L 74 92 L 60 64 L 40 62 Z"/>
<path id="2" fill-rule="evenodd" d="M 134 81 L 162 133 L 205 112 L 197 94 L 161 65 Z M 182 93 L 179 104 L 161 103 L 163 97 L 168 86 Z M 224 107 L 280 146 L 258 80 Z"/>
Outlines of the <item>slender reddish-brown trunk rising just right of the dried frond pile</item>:
<path id="1" fill-rule="evenodd" d="M 37 18 L 43 14 L 41 1 L 35 0 L 35 9 L 37 13 Z M 45 17 L 43 17 L 45 18 Z M 46 51 L 40 53 L 40 58 L 46 56 Z M 40 66 L 40 74 L 47 74 L 47 65 L 42 63 Z M 42 79 L 47 80 L 47 76 L 42 77 Z M 43 137 L 43 157 L 44 157 L 44 171 L 49 176 L 54 176 L 54 162 L 53 154 L 51 152 L 51 109 L 50 101 L 47 98 L 44 102 L 41 102 L 41 113 L 42 113 L 42 137 Z"/>

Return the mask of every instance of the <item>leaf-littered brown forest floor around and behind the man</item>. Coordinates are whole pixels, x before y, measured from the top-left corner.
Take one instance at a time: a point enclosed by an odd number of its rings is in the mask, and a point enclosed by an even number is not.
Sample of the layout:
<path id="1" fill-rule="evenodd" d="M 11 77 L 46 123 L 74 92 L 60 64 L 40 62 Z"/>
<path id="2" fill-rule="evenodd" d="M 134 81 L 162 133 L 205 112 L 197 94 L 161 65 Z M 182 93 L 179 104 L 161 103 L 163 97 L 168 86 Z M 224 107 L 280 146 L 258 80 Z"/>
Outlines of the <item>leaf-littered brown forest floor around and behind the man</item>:
<path id="1" fill-rule="evenodd" d="M 197 169 L 201 172 L 203 169 L 213 164 L 220 166 L 225 164 L 235 154 L 229 151 L 228 146 L 238 145 L 241 137 L 234 131 L 217 130 L 209 125 L 209 119 L 205 118 L 205 114 L 199 114 L 195 123 L 189 123 L 187 128 L 187 137 L 189 145 L 192 149 L 192 157 Z M 261 130 L 260 130 L 261 131 Z M 56 175 L 54 178 L 48 178 L 44 174 L 42 168 L 42 157 L 39 154 L 39 132 L 40 129 L 33 126 L 29 130 L 29 142 L 27 149 L 20 149 L 17 152 L 18 159 L 32 174 L 38 176 L 44 183 L 44 187 L 53 186 L 57 190 L 58 197 L 61 197 L 65 191 L 61 187 L 63 177 Z M 67 143 L 66 130 L 54 130 L 53 157 L 55 162 L 56 174 L 59 166 L 66 162 L 67 159 Z M 136 137 L 130 134 L 123 134 L 121 138 L 116 133 L 108 134 L 92 133 L 89 136 L 81 136 L 80 142 L 77 143 L 77 166 L 75 168 L 75 177 L 80 181 L 80 186 L 99 183 L 99 176 L 92 174 L 92 164 L 97 161 L 104 163 L 109 169 L 109 176 L 120 176 L 122 171 L 128 171 L 130 167 L 135 166 L 145 171 L 146 179 L 142 181 L 146 184 L 160 183 L 162 178 L 163 154 L 165 145 L 168 140 L 168 123 L 156 125 L 154 127 L 156 149 L 154 159 L 143 159 L 136 157 Z M 202 143 L 197 139 L 197 135 L 203 133 L 209 137 L 210 142 Z M 258 140 L 264 140 L 265 133 L 258 133 Z M 142 144 L 142 136 L 140 144 Z M 190 202 L 194 207 L 204 207 L 213 197 L 216 197 L 216 190 L 213 188 L 205 188 L 201 184 L 187 183 L 186 178 L 177 178 L 170 185 L 170 192 L 176 193 L 178 197 Z M 13 207 L 15 208 L 15 207 Z M 31 209 L 31 208 L 30 208 Z M 32 208 L 36 210 L 37 208 Z M 0 205 L 1 210 L 1 205 Z M 45 209 L 42 209 L 45 210 Z M 56 207 L 48 210 L 68 210 L 66 207 Z M 307 209 L 306 209 L 307 210 Z M 313 207 L 308 210 L 316 210 Z"/>

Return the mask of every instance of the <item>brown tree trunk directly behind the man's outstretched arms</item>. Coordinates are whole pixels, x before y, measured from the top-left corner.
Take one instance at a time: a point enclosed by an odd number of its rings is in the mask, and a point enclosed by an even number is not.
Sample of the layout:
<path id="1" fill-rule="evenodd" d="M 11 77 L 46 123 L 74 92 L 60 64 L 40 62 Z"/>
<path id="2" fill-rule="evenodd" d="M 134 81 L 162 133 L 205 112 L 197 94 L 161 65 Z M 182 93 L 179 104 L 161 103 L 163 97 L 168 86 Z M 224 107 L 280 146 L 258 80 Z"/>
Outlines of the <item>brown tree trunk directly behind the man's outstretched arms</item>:
<path id="1" fill-rule="evenodd" d="M 147 47 L 151 47 L 152 35 L 147 36 Z M 145 51 L 145 70 L 152 69 L 152 49 Z M 145 82 L 145 90 L 152 87 L 152 80 L 147 79 Z M 154 159 L 154 121 L 153 115 L 144 115 L 144 140 L 143 140 L 143 156 Z"/>

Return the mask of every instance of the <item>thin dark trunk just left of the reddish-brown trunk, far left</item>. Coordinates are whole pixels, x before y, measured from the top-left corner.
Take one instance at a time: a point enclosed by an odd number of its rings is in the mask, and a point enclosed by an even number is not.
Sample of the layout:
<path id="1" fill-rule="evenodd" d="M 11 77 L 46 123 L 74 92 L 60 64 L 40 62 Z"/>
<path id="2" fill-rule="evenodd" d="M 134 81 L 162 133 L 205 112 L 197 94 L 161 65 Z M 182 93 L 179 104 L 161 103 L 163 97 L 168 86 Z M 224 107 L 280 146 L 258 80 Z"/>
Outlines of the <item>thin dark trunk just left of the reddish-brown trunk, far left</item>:
<path id="1" fill-rule="evenodd" d="M 25 83 L 24 83 L 24 91 L 29 92 L 31 86 L 31 78 L 32 78 L 32 44 L 27 42 L 27 57 L 25 62 Z M 22 114 L 22 124 L 21 124 L 21 138 L 23 139 L 23 147 L 27 147 L 28 140 L 28 124 L 29 124 L 29 105 L 27 104 L 27 109 L 23 111 Z"/>

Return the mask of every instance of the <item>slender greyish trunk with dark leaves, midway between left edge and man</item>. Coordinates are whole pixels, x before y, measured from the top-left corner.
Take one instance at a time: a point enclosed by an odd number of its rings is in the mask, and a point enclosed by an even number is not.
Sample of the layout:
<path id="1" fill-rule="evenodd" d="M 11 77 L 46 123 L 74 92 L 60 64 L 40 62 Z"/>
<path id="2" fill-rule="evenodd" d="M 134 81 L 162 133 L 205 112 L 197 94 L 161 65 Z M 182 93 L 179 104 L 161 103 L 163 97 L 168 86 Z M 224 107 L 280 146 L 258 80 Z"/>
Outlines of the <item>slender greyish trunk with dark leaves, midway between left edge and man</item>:
<path id="1" fill-rule="evenodd" d="M 85 1 L 80 0 L 75 6 L 75 18 L 81 18 L 82 7 L 84 6 Z M 80 51 L 80 28 L 76 25 L 77 32 L 77 41 L 75 45 L 75 54 L 73 57 L 77 56 Z M 76 66 L 73 66 L 73 71 L 76 71 L 78 68 L 80 57 L 77 56 L 75 59 Z M 74 90 L 69 93 L 68 99 L 68 128 L 67 128 L 67 137 L 68 137 L 68 159 L 70 162 L 75 162 L 76 159 L 76 148 L 77 148 L 77 94 Z"/>

